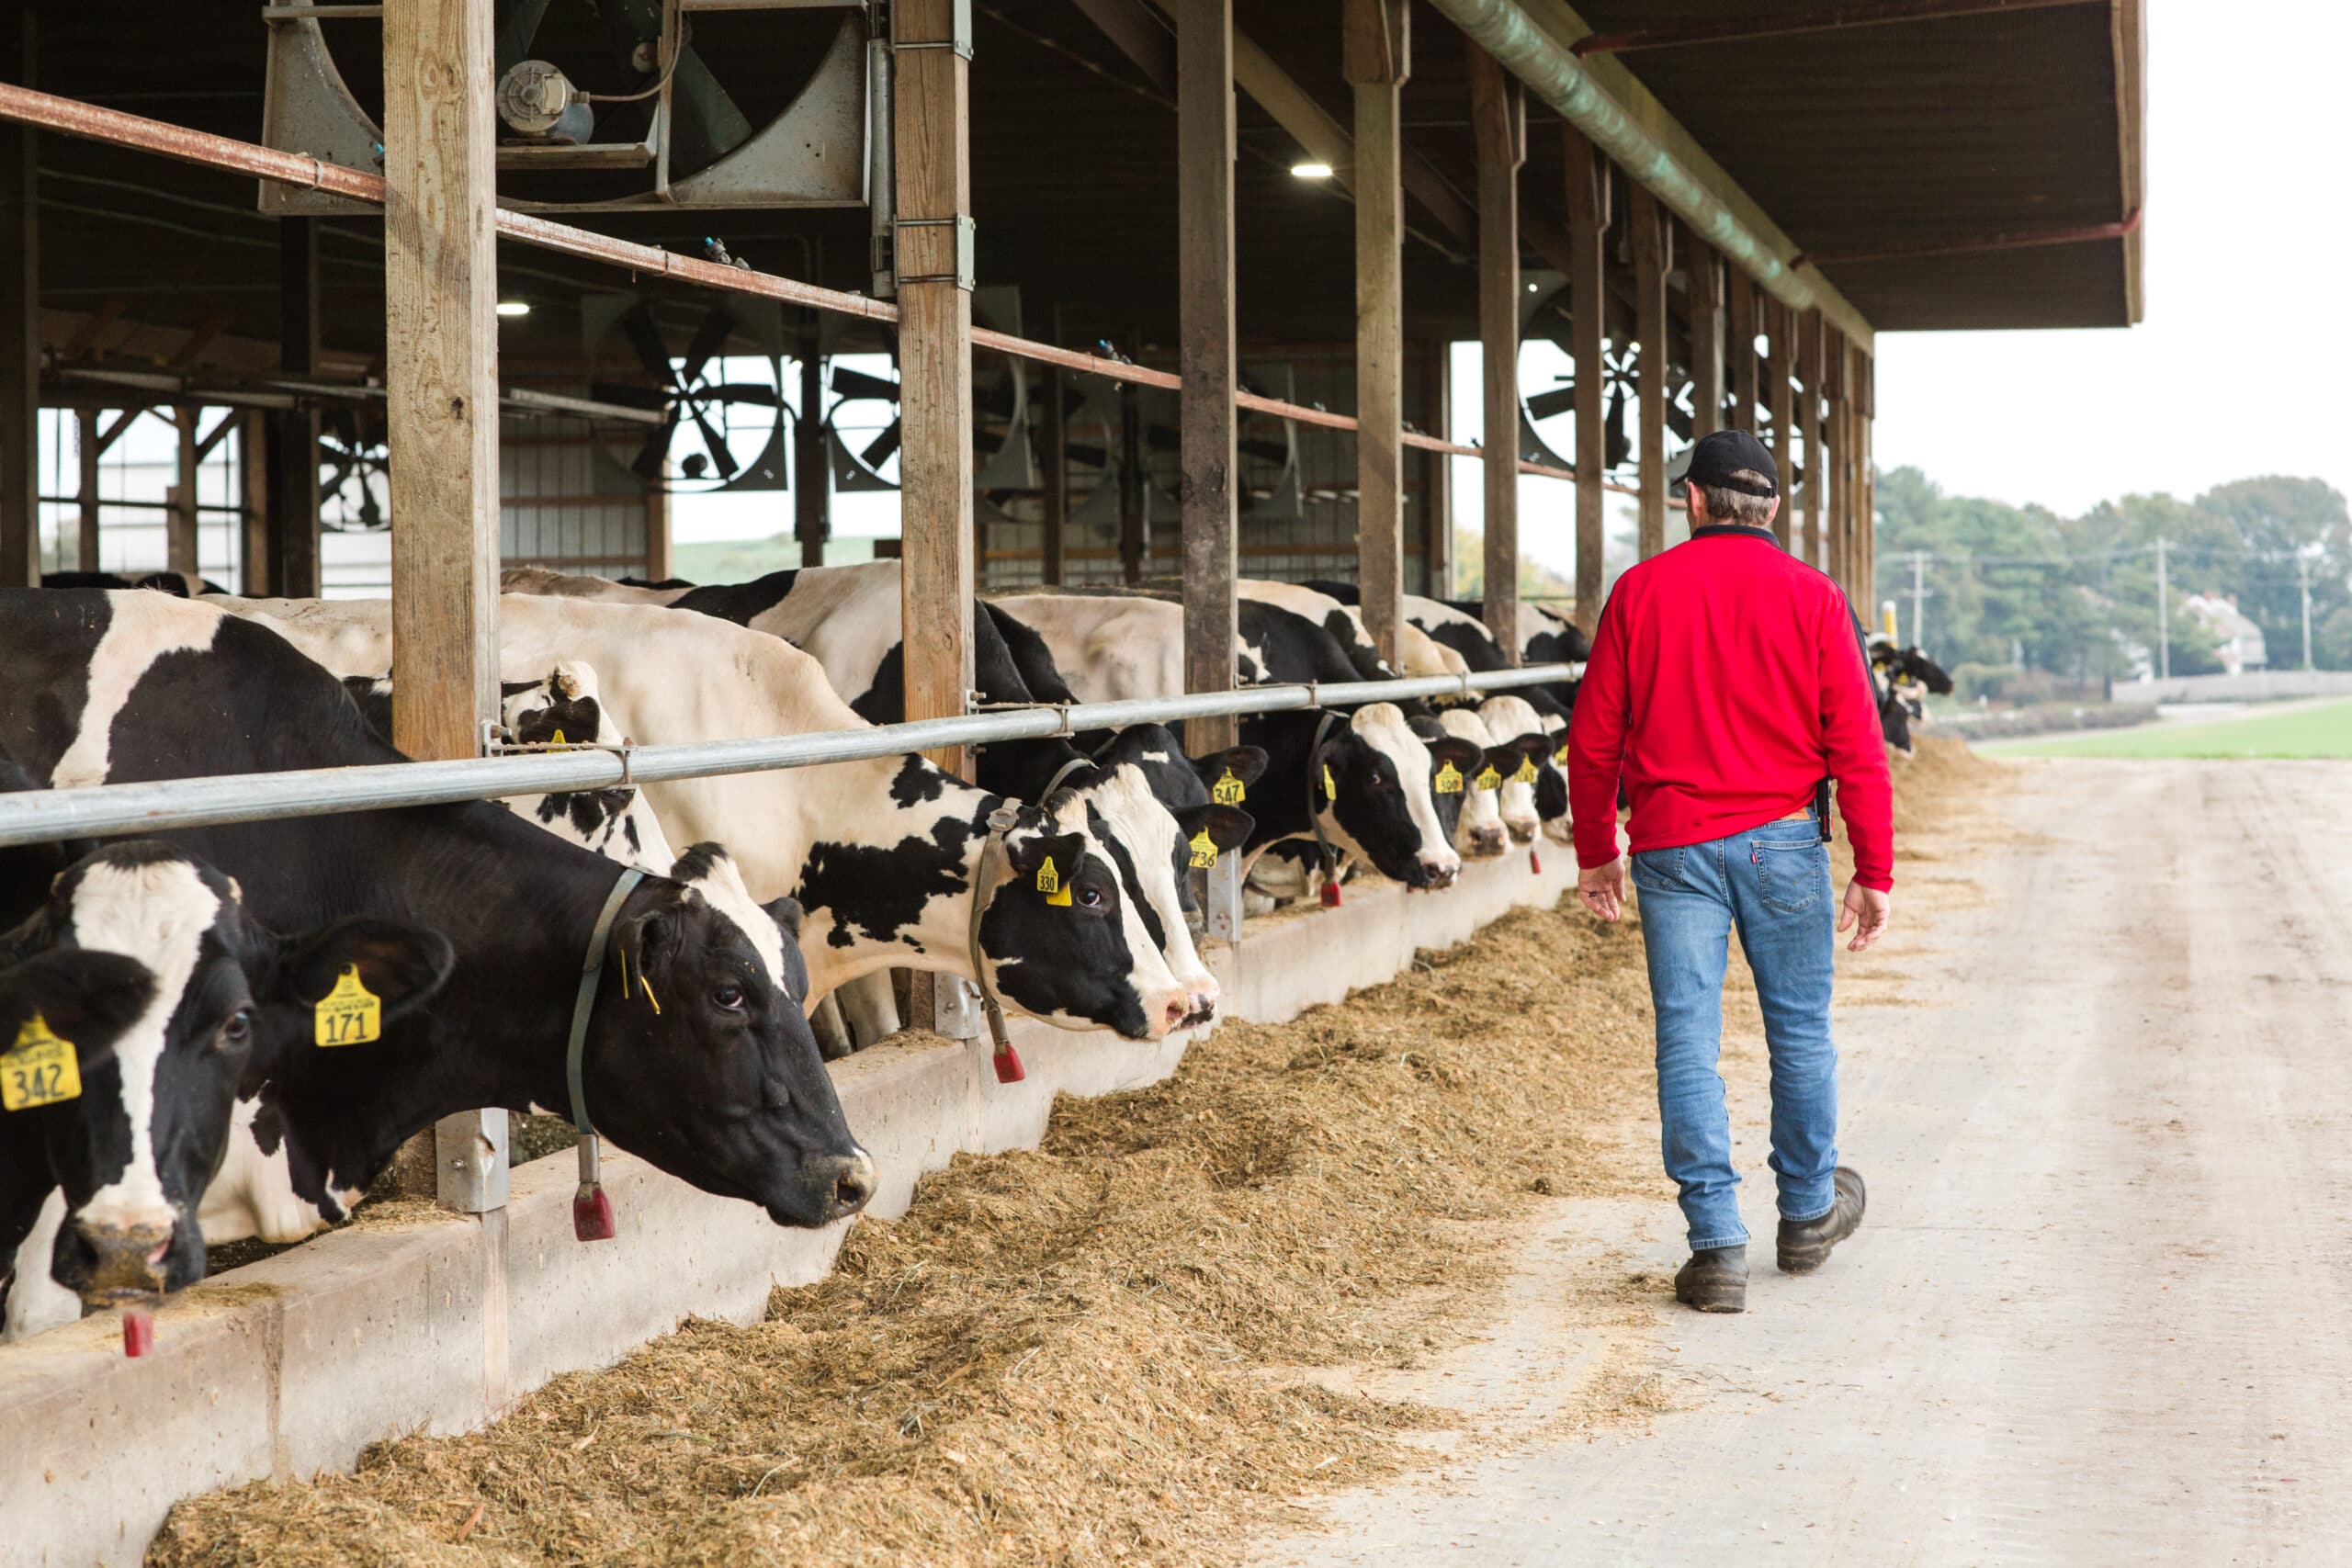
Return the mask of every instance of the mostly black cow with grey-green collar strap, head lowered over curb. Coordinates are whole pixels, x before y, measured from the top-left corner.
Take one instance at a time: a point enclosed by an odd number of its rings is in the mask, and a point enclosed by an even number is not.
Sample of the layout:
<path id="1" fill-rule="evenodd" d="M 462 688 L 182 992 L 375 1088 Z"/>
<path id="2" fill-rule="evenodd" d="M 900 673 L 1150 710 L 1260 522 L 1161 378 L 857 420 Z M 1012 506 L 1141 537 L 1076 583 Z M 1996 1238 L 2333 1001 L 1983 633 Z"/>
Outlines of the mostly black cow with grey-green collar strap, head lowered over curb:
<path id="1" fill-rule="evenodd" d="M 153 592 L 0 592 L 0 745 L 52 788 L 400 759 L 289 642 L 216 602 Z M 235 1187 L 223 1171 L 205 1194 L 207 1234 L 216 1197 L 242 1213 L 219 1213 L 214 1239 L 294 1239 L 341 1218 L 440 1117 L 569 1103 L 564 1025 L 612 860 L 485 802 L 169 837 L 233 875 L 270 931 L 372 914 L 440 931 L 456 954 L 437 1006 L 386 1009 L 379 1039 L 343 1048 L 315 1048 L 299 1009 L 336 976 L 289 978 L 301 1044 L 256 1051 L 242 1091 L 261 1110 L 252 1138 L 230 1140 L 230 1164 L 245 1154 L 275 1171 L 282 1192 L 223 1194 Z M 875 1173 L 793 997 L 795 924 L 797 907 L 753 903 L 710 846 L 647 877 L 612 933 L 586 1091 L 619 1147 L 779 1225 L 826 1225 L 866 1204 Z M 358 959 L 374 990 L 369 961 Z M 386 985 L 395 961 L 414 969 L 390 945 L 379 961 Z"/>

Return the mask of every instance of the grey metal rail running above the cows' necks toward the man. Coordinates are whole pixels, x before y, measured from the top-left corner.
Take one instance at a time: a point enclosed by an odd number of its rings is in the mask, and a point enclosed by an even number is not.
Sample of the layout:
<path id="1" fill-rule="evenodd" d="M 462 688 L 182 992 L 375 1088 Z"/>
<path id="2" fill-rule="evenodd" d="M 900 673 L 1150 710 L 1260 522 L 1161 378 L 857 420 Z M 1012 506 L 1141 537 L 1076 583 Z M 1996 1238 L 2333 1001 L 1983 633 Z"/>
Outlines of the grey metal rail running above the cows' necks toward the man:
<path id="1" fill-rule="evenodd" d="M 1381 703 L 1406 696 L 1470 696 L 1475 691 L 1576 679 L 1576 672 L 1578 665 L 1526 665 L 1479 675 L 1416 675 L 1329 686 L 1242 686 L 1240 691 L 1195 691 L 1188 696 L 1129 698 L 1120 703 L 1002 708 L 962 719 L 913 719 L 908 724 L 823 729 L 748 741 L 510 752 L 456 762 L 383 762 L 348 769 L 219 773 L 212 778 L 87 785 L 80 790 L 26 790 L 0 795 L 0 846 L 219 827 L 221 823 L 266 823 L 292 816 L 334 816 L 341 811 L 383 811 L 393 806 L 442 806 L 506 795 L 609 790 L 670 778 L 764 773 L 771 769 L 821 766 L 826 762 L 898 757 L 941 745 L 1035 741 L 1082 729 L 1167 724 L 1171 719 L 1202 719 L 1228 712 L 1282 712 L 1289 708 Z"/>

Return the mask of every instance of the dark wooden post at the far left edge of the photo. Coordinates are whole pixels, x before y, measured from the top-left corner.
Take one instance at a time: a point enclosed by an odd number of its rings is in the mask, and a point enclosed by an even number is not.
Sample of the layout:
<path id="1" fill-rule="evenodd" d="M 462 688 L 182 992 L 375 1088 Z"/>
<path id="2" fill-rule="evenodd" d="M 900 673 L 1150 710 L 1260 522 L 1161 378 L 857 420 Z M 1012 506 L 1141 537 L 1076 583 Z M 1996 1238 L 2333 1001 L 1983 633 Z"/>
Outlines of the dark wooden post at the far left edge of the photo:
<path id="1" fill-rule="evenodd" d="M 33 85 L 33 12 L 0 24 L 0 82 Z M 0 125 L 0 588 L 40 583 L 40 172 Z"/>

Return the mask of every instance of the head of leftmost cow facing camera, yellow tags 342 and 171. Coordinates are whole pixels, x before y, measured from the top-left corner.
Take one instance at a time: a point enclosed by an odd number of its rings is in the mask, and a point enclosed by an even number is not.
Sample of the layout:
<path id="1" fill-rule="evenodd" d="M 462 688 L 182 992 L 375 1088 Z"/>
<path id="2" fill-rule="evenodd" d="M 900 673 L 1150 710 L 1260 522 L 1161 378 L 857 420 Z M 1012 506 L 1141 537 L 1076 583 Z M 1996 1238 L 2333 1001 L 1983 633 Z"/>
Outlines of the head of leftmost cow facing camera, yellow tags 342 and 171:
<path id="1" fill-rule="evenodd" d="M 96 985 L 108 971 L 73 959 L 132 973 L 106 997 Z M 407 1013 L 449 973 L 449 945 L 372 917 L 273 933 L 235 882 L 181 849 L 134 839 L 59 872 L 42 907 L 0 936 L 0 964 L 12 966 L 0 999 L 16 987 L 31 997 L 16 1018 L 0 1018 L 0 1039 L 66 1041 L 71 1067 L 52 1070 L 47 1088 L 78 1091 L 42 1107 L 47 1171 L 12 1173 L 0 1192 L 14 1338 L 78 1316 L 75 1295 L 127 1300 L 200 1279 L 198 1206 L 221 1168 L 254 1051 L 308 1046 L 313 1004 L 346 966 L 388 1018 Z M 26 1072 L 9 1060 L 0 1056 L 0 1084 Z"/>

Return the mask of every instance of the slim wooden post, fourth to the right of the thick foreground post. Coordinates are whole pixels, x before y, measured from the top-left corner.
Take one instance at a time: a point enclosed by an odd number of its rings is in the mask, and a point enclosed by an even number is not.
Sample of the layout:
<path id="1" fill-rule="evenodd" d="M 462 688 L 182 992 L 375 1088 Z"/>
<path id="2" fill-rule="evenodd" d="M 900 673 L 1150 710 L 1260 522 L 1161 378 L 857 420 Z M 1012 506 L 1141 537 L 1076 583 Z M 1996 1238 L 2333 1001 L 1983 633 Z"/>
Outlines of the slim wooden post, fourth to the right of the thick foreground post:
<path id="1" fill-rule="evenodd" d="M 1477 141 L 1477 336 L 1486 388 L 1486 630 L 1519 663 L 1519 165 L 1526 94 L 1472 42 Z"/>

